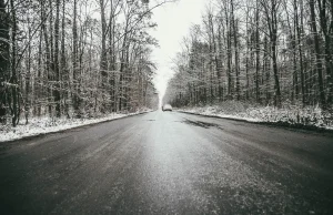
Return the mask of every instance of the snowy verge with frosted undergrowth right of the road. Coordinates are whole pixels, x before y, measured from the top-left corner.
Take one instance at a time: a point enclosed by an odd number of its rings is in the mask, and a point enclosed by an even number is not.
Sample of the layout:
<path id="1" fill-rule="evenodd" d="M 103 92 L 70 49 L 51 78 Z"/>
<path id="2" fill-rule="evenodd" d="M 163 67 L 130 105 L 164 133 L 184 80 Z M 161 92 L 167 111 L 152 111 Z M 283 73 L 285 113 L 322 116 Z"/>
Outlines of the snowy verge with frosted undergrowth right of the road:
<path id="1" fill-rule="evenodd" d="M 239 102 L 226 102 L 220 105 L 176 110 L 208 116 L 244 120 L 248 122 L 285 123 L 290 125 L 305 125 L 333 130 L 333 113 L 324 112 L 319 106 L 284 106 L 276 109 L 274 106 L 250 106 Z"/>

